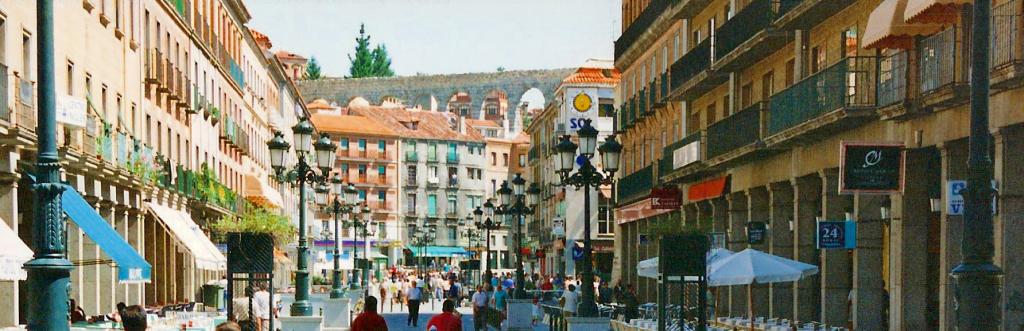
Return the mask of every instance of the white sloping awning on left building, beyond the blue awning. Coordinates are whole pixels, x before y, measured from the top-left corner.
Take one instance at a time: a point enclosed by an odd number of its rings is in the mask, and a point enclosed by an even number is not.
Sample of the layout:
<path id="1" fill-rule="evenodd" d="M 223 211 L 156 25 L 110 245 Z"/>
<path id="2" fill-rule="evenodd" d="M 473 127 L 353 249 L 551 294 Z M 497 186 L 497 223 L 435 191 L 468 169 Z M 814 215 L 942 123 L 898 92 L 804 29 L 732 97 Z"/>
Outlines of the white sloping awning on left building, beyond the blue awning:
<path id="1" fill-rule="evenodd" d="M 217 246 L 196 225 L 188 214 L 160 204 L 147 202 L 146 206 L 164 222 L 178 243 L 196 259 L 196 266 L 207 271 L 224 270 L 227 259 Z"/>

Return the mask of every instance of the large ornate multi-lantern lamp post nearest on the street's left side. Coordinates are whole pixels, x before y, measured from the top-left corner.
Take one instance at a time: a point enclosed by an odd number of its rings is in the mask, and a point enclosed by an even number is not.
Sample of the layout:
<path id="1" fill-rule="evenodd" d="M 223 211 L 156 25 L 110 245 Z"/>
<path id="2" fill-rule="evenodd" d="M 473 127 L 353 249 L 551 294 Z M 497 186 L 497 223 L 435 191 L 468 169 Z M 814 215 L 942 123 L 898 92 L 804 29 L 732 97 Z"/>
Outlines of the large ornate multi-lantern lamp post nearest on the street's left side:
<path id="1" fill-rule="evenodd" d="M 270 165 L 279 177 L 295 178 L 299 187 L 299 246 L 297 248 L 298 261 L 295 271 L 295 302 L 292 302 L 291 316 L 312 316 L 312 304 L 309 303 L 309 270 L 307 259 L 309 258 L 309 247 L 306 243 L 306 182 L 315 184 L 327 179 L 327 174 L 334 166 L 335 150 L 337 146 L 331 142 L 327 134 L 321 135 L 316 143 L 312 143 L 313 126 L 309 120 L 302 118 L 299 123 L 292 127 L 295 134 L 295 152 L 298 154 L 298 164 L 291 170 L 294 176 L 282 176 L 287 170 L 285 156 L 290 148 L 285 136 L 281 132 L 274 133 L 266 146 L 270 150 Z M 315 151 L 311 153 L 310 148 Z M 310 165 L 306 159 L 315 162 Z M 314 169 L 318 168 L 319 173 Z M 326 195 L 325 195 L 326 197 Z M 326 198 L 325 198 L 326 200 Z M 326 201 L 325 201 L 326 203 Z"/>

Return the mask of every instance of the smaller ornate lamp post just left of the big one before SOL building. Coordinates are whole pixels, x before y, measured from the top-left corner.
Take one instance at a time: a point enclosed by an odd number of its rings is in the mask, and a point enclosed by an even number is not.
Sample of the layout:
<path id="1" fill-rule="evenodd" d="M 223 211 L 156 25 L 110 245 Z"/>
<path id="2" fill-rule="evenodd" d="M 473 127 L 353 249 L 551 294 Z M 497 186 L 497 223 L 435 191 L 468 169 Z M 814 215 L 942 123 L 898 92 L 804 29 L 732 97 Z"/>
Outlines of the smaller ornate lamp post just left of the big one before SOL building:
<path id="1" fill-rule="evenodd" d="M 515 265 L 515 292 L 512 293 L 512 297 L 516 299 L 526 298 L 526 277 L 523 275 L 523 260 L 522 260 L 522 223 L 525 215 L 534 214 L 534 206 L 537 204 L 537 195 L 540 193 L 540 189 L 537 185 L 530 185 L 530 190 L 526 190 L 526 179 L 520 174 L 516 174 L 515 178 L 512 178 L 512 188 L 509 188 L 508 181 L 502 183 L 502 188 L 498 190 L 498 195 L 502 199 L 502 206 L 499 208 L 500 213 L 513 216 L 512 219 L 515 222 L 515 239 L 516 239 L 516 265 Z"/>

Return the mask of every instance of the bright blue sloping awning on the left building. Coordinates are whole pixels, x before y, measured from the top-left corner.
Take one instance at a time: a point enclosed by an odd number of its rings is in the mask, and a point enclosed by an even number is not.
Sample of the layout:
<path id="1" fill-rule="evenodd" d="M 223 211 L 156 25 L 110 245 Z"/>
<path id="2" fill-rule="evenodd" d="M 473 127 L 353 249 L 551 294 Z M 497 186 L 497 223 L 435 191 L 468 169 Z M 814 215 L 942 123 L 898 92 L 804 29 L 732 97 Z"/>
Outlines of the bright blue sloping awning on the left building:
<path id="1" fill-rule="evenodd" d="M 99 216 L 75 188 L 66 185 L 60 195 L 65 213 L 85 232 L 106 256 L 114 260 L 121 283 L 147 283 L 153 267 L 103 217 Z"/>

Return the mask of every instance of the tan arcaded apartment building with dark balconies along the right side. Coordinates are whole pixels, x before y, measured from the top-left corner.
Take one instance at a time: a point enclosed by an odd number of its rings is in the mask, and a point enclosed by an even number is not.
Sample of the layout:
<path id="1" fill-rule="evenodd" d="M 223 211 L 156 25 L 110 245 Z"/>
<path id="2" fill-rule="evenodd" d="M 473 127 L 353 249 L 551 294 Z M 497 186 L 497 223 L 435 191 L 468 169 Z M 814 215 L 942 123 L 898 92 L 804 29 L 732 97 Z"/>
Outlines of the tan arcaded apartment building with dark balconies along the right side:
<path id="1" fill-rule="evenodd" d="M 941 9 L 941 10 L 939 10 Z M 1004 328 L 1020 292 L 1024 187 L 1018 156 L 1021 2 L 994 1 L 991 68 L 970 68 L 967 6 L 921 0 L 627 0 L 615 67 L 625 151 L 616 202 L 620 283 L 653 301 L 636 263 L 657 256 L 667 224 L 714 233 L 713 245 L 798 259 L 820 273 L 754 285 L 756 316 L 858 330 L 953 328 L 963 216 L 951 182 L 967 173 L 967 73 L 991 70 L 996 263 Z M 897 34 L 898 33 L 898 34 Z M 900 191 L 841 194 L 844 142 L 902 148 Z M 654 209 L 652 188 L 682 207 Z M 856 248 L 815 248 L 816 220 L 852 219 Z M 746 226 L 767 225 L 764 243 Z M 748 291 L 718 289 L 719 316 L 741 316 Z M 888 319 L 885 319 L 888 317 Z"/>

